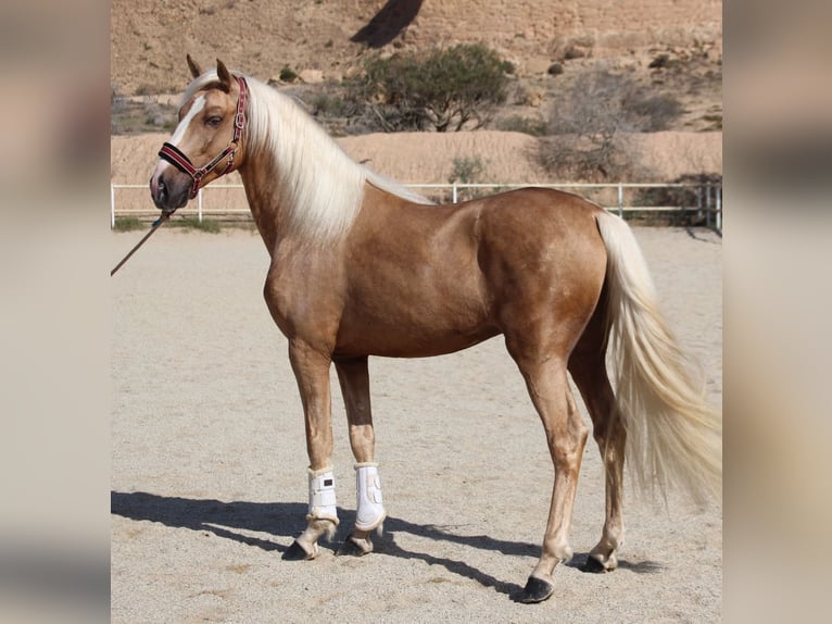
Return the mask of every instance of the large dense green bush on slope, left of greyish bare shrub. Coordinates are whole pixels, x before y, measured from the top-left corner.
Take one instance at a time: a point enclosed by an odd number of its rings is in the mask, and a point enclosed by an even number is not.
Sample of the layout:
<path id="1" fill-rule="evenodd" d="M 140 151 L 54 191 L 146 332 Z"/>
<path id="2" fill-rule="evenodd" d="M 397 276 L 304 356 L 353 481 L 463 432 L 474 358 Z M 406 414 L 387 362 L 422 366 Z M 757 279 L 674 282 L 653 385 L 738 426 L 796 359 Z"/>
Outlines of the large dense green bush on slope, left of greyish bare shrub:
<path id="1" fill-rule="evenodd" d="M 513 67 L 481 43 L 371 57 L 358 88 L 387 130 L 476 129 L 506 99 Z"/>

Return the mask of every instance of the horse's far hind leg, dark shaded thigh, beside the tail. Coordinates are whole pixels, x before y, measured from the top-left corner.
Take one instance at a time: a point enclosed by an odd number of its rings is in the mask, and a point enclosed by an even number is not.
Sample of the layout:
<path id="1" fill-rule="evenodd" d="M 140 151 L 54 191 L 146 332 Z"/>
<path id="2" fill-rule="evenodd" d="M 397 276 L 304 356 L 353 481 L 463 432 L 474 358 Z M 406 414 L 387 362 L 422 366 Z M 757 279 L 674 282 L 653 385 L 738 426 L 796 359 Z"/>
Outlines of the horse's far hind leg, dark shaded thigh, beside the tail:
<path id="1" fill-rule="evenodd" d="M 603 309 L 603 305 L 600 305 Z M 623 542 L 623 462 L 627 433 L 615 408 L 605 366 L 605 328 L 596 312 L 569 359 L 569 372 L 593 423 L 606 475 L 606 514 L 601 540 L 590 551 L 585 572 L 608 572 L 618 565 Z"/>

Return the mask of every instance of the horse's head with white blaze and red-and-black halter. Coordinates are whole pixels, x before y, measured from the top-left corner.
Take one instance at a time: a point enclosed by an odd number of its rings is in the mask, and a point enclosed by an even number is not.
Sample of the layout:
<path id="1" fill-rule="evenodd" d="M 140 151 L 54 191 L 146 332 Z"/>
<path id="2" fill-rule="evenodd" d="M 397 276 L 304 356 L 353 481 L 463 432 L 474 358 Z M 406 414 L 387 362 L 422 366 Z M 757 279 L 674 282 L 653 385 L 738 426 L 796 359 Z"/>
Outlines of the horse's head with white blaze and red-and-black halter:
<path id="1" fill-rule="evenodd" d="M 247 86 L 217 61 L 216 73 L 203 74 L 188 57 L 194 82 L 179 109 L 179 125 L 159 152 L 150 192 L 160 210 L 172 212 L 199 189 L 240 165 L 245 126 Z M 222 166 L 220 166 L 222 165 Z"/>

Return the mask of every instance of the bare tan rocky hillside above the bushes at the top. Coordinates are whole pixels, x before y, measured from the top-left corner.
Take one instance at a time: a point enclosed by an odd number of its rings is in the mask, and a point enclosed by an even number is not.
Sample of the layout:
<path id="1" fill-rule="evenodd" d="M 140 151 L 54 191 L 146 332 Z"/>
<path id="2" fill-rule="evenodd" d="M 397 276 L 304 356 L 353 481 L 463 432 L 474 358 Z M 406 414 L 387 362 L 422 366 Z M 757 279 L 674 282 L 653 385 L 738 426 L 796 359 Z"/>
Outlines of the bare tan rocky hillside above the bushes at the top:
<path id="1" fill-rule="evenodd" d="M 524 77 L 564 59 L 721 59 L 719 0 L 113 0 L 111 78 L 124 93 L 176 92 L 185 54 L 261 78 L 291 67 L 339 79 L 370 49 L 486 42 Z"/>

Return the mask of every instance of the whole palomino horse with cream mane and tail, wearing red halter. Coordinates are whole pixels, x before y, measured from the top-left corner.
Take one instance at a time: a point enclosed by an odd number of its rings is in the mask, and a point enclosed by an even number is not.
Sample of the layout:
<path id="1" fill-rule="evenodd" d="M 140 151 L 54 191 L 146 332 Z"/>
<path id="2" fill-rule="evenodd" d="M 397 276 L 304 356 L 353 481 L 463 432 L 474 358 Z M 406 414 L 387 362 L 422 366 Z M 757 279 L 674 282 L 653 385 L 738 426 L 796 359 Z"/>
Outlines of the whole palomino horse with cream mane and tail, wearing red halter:
<path id="1" fill-rule="evenodd" d="M 307 526 L 285 559 L 313 559 L 338 525 L 329 372 L 340 380 L 355 455 L 357 515 L 342 552 L 373 550 L 386 517 L 367 358 L 450 353 L 502 334 L 555 467 L 540 560 L 520 600 L 554 590 L 588 427 L 606 472 L 606 517 L 588 569 L 614 570 L 628 463 L 642 485 L 721 491 L 721 424 L 691 383 L 623 221 L 573 195 L 526 188 L 455 205 L 352 161 L 291 99 L 222 62 L 193 82 L 150 188 L 172 212 L 239 171 L 272 263 L 264 295 L 289 341 L 306 424 Z M 610 349 L 616 391 L 607 377 Z"/>

